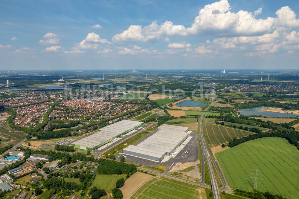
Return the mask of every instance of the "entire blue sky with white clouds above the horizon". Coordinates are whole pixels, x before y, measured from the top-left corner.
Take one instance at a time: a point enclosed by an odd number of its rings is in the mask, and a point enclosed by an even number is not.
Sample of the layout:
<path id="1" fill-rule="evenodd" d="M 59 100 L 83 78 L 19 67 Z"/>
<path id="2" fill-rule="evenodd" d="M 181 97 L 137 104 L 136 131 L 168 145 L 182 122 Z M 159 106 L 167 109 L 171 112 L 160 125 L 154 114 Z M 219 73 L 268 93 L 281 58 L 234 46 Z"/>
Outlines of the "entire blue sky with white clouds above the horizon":
<path id="1" fill-rule="evenodd" d="M 3 1 L 0 69 L 298 69 L 299 4 Z"/>

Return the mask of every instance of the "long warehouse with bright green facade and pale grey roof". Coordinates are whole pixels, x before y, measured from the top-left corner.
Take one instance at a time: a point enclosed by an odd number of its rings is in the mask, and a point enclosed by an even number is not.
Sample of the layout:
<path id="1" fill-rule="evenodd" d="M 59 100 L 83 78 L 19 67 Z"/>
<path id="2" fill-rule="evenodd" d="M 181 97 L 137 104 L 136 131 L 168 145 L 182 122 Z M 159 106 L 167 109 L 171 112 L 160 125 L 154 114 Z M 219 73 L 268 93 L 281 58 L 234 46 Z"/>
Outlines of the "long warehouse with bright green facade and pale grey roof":
<path id="1" fill-rule="evenodd" d="M 131 120 L 121 120 L 117 123 L 105 126 L 100 131 L 71 143 L 76 149 L 92 151 L 107 144 L 115 138 L 140 127 L 143 123 Z"/>

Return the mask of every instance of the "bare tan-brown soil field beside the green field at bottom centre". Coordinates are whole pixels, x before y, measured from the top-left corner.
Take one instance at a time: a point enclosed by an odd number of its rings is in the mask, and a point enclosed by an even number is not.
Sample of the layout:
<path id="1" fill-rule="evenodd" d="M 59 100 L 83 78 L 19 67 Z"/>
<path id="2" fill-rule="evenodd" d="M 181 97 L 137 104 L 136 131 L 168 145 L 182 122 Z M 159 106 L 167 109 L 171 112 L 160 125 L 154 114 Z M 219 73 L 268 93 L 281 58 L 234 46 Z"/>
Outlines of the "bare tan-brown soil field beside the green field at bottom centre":
<path id="1" fill-rule="evenodd" d="M 136 172 L 126 180 L 125 185 L 120 188 L 123 192 L 123 198 L 129 198 L 144 182 L 153 178 L 152 175 Z"/>

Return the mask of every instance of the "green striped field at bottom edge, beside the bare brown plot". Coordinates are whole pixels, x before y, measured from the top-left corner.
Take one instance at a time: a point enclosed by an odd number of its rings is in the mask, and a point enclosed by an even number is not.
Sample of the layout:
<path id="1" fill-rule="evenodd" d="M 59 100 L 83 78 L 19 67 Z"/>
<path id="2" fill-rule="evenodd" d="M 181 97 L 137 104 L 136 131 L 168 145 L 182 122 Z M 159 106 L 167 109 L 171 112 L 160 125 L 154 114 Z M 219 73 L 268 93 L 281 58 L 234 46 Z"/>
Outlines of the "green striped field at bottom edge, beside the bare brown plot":
<path id="1" fill-rule="evenodd" d="M 205 189 L 181 181 L 156 177 L 145 183 L 131 197 L 132 199 L 205 198 Z"/>

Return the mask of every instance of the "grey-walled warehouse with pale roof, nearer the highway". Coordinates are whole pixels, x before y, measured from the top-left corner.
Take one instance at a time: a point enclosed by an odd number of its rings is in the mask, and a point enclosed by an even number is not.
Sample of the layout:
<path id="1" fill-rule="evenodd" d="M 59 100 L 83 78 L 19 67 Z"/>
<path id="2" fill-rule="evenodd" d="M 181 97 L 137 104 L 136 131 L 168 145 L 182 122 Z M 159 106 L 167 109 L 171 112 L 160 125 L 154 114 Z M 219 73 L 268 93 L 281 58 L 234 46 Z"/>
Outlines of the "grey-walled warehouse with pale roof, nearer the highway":
<path id="1" fill-rule="evenodd" d="M 153 161 L 170 156 L 189 136 L 188 127 L 163 124 L 157 132 L 139 143 L 123 149 L 123 154 Z"/>

